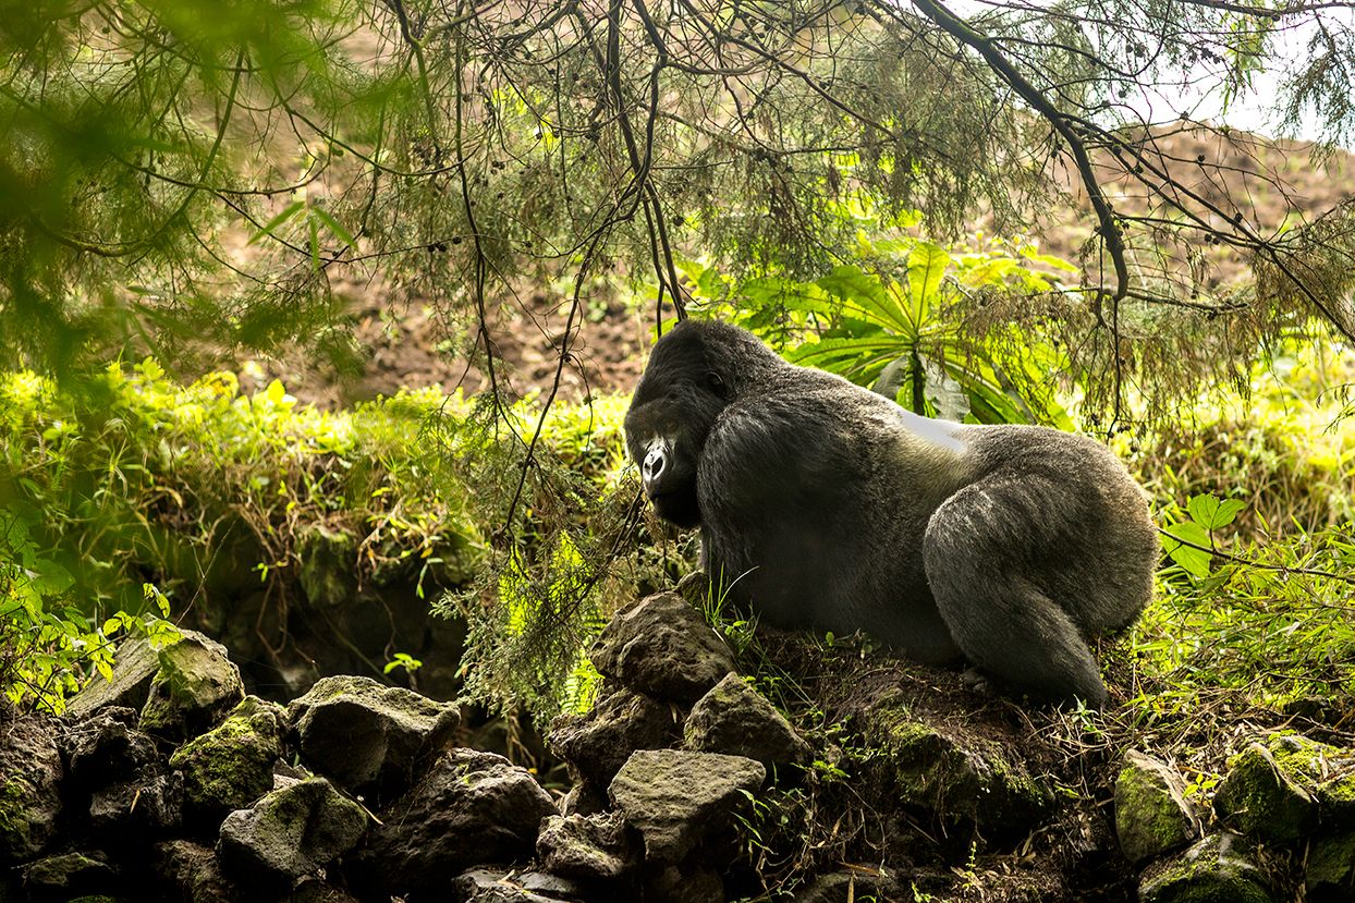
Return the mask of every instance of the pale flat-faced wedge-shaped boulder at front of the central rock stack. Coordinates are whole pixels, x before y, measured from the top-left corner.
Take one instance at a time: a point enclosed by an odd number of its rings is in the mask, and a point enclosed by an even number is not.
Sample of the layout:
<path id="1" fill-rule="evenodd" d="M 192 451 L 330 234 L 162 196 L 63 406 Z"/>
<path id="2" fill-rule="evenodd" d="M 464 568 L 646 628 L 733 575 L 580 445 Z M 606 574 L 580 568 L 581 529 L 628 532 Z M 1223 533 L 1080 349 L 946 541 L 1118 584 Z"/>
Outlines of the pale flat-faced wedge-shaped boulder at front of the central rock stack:
<path id="1" fill-rule="evenodd" d="M 638 750 L 608 795 L 645 841 L 645 860 L 676 864 L 706 837 L 733 823 L 734 812 L 767 780 L 760 762 L 687 750 Z"/>

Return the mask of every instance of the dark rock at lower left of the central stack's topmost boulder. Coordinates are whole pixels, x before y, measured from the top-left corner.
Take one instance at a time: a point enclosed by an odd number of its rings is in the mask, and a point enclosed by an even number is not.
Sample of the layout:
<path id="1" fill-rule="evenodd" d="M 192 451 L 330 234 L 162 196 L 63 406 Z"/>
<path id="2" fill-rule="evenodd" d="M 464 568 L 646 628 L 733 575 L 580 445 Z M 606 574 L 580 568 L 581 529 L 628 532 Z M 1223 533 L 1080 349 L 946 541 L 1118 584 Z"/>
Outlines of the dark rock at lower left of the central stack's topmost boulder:
<path id="1" fill-rule="evenodd" d="M 663 750 L 682 738 L 673 706 L 617 689 L 587 715 L 562 715 L 547 742 L 592 786 L 606 788 L 635 750 Z"/>

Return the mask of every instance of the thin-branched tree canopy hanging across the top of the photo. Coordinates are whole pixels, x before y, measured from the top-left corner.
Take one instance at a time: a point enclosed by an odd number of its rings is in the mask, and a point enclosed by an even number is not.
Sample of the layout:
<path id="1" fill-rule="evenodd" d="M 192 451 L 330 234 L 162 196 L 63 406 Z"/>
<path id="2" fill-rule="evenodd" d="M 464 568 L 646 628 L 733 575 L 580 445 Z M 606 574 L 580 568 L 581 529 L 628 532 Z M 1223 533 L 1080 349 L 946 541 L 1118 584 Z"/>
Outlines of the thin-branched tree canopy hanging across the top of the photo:
<path id="1" fill-rule="evenodd" d="M 9 363 L 136 334 L 337 351 L 331 279 L 379 273 L 469 323 L 493 378 L 486 310 L 524 278 L 622 260 L 680 306 L 680 258 L 813 274 L 915 209 L 1015 232 L 1073 188 L 1080 292 L 986 320 L 1062 334 L 1118 403 L 1308 317 L 1355 338 L 1350 198 L 1260 224 L 1226 179 L 1249 138 L 1183 178 L 1160 138 L 1210 126 L 1130 106 L 1182 73 L 1237 96 L 1304 28 L 1278 102 L 1350 141 L 1352 7 L 39 0 L 0 23 L 0 339 Z M 1220 290 L 1221 251 L 1256 278 Z"/>

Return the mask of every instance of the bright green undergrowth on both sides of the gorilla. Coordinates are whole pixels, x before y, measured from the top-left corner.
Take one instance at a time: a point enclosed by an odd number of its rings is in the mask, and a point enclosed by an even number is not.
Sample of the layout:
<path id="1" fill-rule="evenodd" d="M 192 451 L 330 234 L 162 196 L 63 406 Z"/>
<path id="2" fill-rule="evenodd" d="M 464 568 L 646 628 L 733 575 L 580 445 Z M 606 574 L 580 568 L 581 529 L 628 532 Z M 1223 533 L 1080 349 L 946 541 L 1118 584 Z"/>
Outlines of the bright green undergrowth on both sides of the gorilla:
<path id="1" fill-rule="evenodd" d="M 1352 365 L 1282 365 L 1283 381 L 1259 373 L 1245 397 L 1118 437 L 1171 556 L 1156 603 L 1103 655 L 1123 727 L 1183 752 L 1203 712 L 1355 720 L 1355 423 L 1331 392 Z M 535 446 L 530 403 L 497 428 L 438 392 L 324 412 L 278 384 L 241 395 L 229 374 L 180 385 L 153 362 L 79 390 L 8 374 L 0 401 L 0 679 L 24 706 L 60 709 L 111 635 L 163 629 L 161 602 L 175 617 L 247 584 L 283 598 L 316 544 L 346 536 L 358 584 L 396 569 L 454 587 L 442 607 L 470 616 L 470 690 L 545 713 L 587 696 L 570 649 L 606 611 L 691 563 L 690 545 L 645 538 L 623 397 L 556 405 Z M 505 506 L 526 529 L 504 531 Z M 557 670 L 533 664 L 542 644 Z"/>

